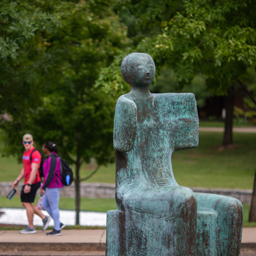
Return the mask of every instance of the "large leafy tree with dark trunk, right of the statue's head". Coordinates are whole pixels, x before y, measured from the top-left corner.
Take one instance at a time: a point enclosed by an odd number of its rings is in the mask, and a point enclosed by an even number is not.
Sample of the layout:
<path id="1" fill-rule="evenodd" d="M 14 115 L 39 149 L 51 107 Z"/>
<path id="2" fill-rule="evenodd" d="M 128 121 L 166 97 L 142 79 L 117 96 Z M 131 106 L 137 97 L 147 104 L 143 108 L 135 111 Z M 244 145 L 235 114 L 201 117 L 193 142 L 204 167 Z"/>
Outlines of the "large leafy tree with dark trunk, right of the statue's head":
<path id="1" fill-rule="evenodd" d="M 226 94 L 223 145 L 233 143 L 234 86 L 242 86 L 249 95 L 248 86 L 243 84 L 256 60 L 256 4 L 249 0 L 162 0 L 157 3 L 145 0 L 132 4 L 133 1 L 126 2 L 130 12 L 139 16 L 140 30 L 149 32 L 134 51 L 149 53 L 158 69 L 163 66 L 173 69 L 181 87 L 201 73 L 206 76 L 206 86 L 211 93 Z M 112 88 L 118 87 L 117 79 L 115 81 Z M 106 85 L 98 83 L 108 90 Z"/>

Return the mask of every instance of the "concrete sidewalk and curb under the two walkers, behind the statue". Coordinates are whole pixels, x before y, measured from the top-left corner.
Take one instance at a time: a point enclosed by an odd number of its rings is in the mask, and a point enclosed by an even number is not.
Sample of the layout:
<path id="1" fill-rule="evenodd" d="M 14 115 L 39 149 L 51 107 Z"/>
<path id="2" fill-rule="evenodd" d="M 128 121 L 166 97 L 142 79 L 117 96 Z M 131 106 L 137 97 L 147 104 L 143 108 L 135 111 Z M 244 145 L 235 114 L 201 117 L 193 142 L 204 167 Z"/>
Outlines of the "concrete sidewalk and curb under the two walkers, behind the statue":
<path id="1" fill-rule="evenodd" d="M 51 255 L 105 255 L 106 230 L 62 230 L 62 236 L 46 236 L 47 231 L 38 230 L 36 234 L 21 235 L 19 231 L 0 231 L 0 255 L 27 255 L 35 252 L 50 252 Z M 256 228 L 243 228 L 241 251 L 256 251 Z M 30 253 L 29 253 L 30 252 Z M 52 253 L 54 252 L 54 253 Z M 61 252 L 61 253 L 60 253 Z M 69 252 L 65 254 L 63 252 Z M 71 254 L 73 252 L 75 254 Z M 79 254 L 79 253 L 80 254 Z M 59 254 L 58 254 L 59 253 Z M 86 254 L 89 253 L 89 254 Z M 95 253 L 95 254 L 93 254 Z M 44 254 L 40 254 L 44 255 Z M 45 254 L 49 255 L 49 254 Z M 253 255 L 253 254 L 250 254 Z"/>

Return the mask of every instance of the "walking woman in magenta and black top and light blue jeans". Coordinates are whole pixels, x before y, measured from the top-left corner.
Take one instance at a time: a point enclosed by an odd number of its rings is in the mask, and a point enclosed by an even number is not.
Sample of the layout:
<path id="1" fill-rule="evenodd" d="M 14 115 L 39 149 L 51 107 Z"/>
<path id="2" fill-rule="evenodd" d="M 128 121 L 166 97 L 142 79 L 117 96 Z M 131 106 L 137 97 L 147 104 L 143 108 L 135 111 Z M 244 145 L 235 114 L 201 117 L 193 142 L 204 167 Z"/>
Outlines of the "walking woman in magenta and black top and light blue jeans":
<path id="1" fill-rule="evenodd" d="M 42 183 L 41 196 L 43 196 L 43 207 L 50 214 L 54 221 L 53 231 L 47 233 L 47 236 L 61 236 L 61 229 L 65 227 L 60 222 L 59 199 L 60 190 L 63 187 L 61 182 L 60 161 L 58 158 L 58 146 L 51 141 L 47 141 L 42 147 L 47 155 L 45 159 L 44 182 Z"/>

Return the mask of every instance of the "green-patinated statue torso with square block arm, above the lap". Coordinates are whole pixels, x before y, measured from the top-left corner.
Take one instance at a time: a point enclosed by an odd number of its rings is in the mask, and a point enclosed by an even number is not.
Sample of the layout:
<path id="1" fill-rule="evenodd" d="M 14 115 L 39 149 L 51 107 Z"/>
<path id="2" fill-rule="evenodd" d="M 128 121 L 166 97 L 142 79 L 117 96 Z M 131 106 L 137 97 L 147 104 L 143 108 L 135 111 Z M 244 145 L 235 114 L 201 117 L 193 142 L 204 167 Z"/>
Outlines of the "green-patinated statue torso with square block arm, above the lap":
<path id="1" fill-rule="evenodd" d="M 198 143 L 198 135 L 191 141 L 194 133 L 198 133 L 194 94 L 151 94 L 139 98 L 129 93 L 122 97 L 135 103 L 137 130 L 130 151 L 119 153 L 116 150 L 117 188 L 132 189 L 137 183 L 144 188 L 178 186 L 172 172 L 171 155 L 175 150 Z M 121 111 L 124 118 L 129 115 L 129 110 Z"/>

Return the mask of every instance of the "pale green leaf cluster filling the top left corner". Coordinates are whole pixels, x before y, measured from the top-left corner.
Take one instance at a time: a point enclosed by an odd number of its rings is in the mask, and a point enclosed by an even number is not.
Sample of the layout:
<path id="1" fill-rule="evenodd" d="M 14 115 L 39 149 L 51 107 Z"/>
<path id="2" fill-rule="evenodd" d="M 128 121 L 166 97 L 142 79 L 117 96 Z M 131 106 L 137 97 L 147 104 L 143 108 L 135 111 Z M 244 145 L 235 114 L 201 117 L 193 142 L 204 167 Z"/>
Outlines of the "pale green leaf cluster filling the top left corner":
<path id="1" fill-rule="evenodd" d="M 0 20 L 0 59 L 4 60 L 17 59 L 37 31 L 45 32 L 59 25 L 54 15 L 29 0 L 1 1 Z"/>

